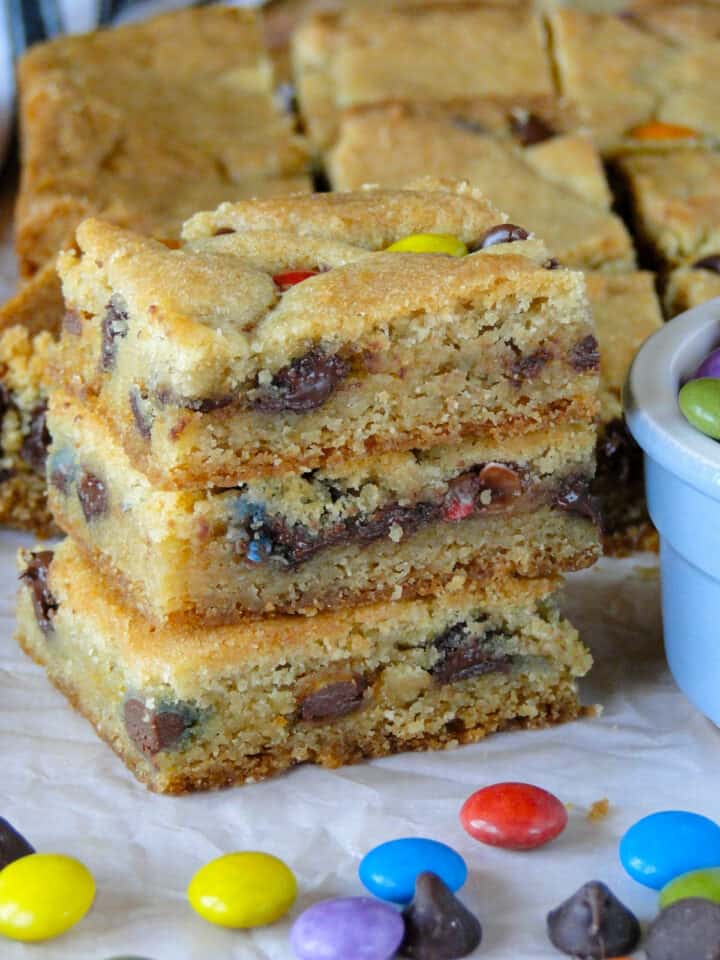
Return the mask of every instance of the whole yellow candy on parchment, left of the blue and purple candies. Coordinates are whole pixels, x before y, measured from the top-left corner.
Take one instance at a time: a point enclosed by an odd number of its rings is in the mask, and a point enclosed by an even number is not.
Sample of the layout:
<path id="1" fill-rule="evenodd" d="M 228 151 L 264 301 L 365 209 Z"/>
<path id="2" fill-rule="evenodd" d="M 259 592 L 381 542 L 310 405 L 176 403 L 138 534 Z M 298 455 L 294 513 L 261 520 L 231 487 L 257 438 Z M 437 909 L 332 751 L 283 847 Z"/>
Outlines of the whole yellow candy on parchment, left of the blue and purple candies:
<path id="1" fill-rule="evenodd" d="M 262 927 L 275 923 L 295 902 L 295 875 L 269 853 L 228 853 L 201 867 L 190 881 L 188 900 L 209 923 Z"/>

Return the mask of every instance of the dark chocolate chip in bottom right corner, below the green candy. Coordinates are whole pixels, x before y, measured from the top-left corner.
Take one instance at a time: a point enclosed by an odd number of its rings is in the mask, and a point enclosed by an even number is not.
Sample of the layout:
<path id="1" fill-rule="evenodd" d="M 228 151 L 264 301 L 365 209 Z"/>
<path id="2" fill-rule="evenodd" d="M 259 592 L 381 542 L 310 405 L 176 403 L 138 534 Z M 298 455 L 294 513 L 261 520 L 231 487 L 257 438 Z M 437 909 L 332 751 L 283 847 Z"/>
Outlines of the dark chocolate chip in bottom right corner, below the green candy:
<path id="1" fill-rule="evenodd" d="M 677 900 L 653 921 L 647 960 L 720 960 L 720 904 L 699 897 Z"/>

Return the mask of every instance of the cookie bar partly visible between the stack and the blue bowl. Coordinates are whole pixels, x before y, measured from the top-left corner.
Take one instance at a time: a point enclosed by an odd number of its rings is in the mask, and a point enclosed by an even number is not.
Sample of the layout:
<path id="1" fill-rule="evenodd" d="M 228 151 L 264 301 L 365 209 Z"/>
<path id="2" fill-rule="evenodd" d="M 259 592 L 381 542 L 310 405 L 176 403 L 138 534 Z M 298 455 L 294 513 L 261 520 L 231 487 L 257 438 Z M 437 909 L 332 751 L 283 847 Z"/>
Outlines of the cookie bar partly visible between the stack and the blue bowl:
<path id="1" fill-rule="evenodd" d="M 662 326 L 652 273 L 588 273 L 588 297 L 600 343 L 600 429 L 592 485 L 603 520 L 605 552 L 656 547 L 645 504 L 642 451 L 622 414 L 622 389 L 642 343 Z"/>

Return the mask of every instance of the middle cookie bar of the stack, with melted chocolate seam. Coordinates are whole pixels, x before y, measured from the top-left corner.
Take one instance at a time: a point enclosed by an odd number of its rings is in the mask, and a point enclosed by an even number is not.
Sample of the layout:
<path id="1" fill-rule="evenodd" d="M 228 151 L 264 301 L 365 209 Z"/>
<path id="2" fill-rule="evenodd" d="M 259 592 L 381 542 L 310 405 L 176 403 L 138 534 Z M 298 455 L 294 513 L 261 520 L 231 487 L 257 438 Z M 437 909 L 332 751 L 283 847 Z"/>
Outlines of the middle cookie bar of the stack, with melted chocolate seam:
<path id="1" fill-rule="evenodd" d="M 57 522 L 155 623 L 229 622 L 543 576 L 599 554 L 594 425 L 163 491 L 87 404 L 54 394 Z"/>

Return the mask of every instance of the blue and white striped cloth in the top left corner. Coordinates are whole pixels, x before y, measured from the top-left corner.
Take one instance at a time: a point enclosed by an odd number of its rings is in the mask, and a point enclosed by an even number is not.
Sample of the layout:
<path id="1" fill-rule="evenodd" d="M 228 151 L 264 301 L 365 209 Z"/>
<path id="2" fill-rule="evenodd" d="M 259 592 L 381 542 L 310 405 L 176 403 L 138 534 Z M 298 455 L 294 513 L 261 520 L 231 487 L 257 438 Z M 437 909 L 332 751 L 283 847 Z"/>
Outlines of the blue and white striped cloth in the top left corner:
<path id="1" fill-rule="evenodd" d="M 193 0 L 0 0 L 0 167 L 15 114 L 13 64 L 29 46 L 61 33 L 125 23 L 189 6 Z M 194 0 L 195 4 L 208 0 Z M 258 0 L 236 0 L 256 6 Z"/>

